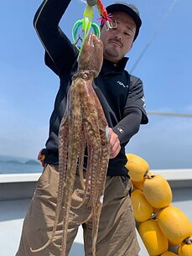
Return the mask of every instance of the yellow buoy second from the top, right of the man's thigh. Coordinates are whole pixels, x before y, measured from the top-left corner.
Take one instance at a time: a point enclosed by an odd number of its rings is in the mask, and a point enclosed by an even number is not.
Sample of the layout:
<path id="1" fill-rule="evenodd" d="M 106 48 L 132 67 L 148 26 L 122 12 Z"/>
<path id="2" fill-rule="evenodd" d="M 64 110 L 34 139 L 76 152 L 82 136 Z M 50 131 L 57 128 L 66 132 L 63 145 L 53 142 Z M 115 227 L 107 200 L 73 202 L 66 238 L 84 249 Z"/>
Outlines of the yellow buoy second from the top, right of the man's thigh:
<path id="1" fill-rule="evenodd" d="M 152 175 L 143 182 L 143 194 L 148 203 L 155 208 L 169 206 L 172 201 L 172 191 L 167 180 L 161 175 Z"/>

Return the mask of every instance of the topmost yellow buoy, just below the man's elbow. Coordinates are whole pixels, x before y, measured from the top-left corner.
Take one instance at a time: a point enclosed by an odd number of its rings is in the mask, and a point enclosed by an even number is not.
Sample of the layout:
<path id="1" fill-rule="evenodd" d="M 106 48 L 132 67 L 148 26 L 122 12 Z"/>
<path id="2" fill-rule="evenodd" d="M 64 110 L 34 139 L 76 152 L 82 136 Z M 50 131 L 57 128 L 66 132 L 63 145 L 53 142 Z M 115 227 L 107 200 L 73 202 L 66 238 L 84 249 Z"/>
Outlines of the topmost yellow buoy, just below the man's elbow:
<path id="1" fill-rule="evenodd" d="M 133 181 L 143 181 L 145 174 L 148 173 L 148 162 L 137 154 L 126 154 L 128 175 Z"/>

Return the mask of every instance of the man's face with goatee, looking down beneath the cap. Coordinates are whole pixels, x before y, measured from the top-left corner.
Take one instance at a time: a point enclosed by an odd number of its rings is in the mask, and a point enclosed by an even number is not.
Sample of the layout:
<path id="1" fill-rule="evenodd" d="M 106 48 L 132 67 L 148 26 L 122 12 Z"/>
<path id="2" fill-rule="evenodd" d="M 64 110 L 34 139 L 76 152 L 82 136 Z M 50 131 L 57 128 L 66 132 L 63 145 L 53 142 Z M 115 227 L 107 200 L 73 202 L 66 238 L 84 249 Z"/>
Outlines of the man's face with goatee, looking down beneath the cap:
<path id="1" fill-rule="evenodd" d="M 117 28 L 106 31 L 104 26 L 101 29 L 101 41 L 104 58 L 118 62 L 132 48 L 136 24 L 132 17 L 123 12 L 112 13 L 112 20 L 117 22 Z"/>

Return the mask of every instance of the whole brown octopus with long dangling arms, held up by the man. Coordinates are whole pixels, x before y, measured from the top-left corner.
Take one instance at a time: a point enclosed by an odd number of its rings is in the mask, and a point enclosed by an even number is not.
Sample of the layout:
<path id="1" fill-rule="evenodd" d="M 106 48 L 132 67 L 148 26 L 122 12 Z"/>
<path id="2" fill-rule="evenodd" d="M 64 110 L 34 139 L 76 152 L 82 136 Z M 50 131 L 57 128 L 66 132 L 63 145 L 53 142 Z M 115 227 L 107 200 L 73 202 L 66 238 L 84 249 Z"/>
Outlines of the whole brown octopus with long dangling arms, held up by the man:
<path id="1" fill-rule="evenodd" d="M 89 34 L 80 50 L 78 69 L 72 77 L 67 94 L 67 106 L 59 131 L 59 188 L 54 217 L 54 227 L 49 241 L 43 247 L 32 249 L 38 252 L 53 241 L 59 222 L 61 207 L 64 207 L 61 254 L 65 256 L 71 196 L 78 170 L 84 198 L 91 201 L 92 255 L 96 256 L 96 239 L 106 183 L 109 161 L 109 128 L 101 103 L 92 86 L 99 75 L 103 61 L 103 45 L 95 34 Z M 84 179 L 84 155 L 87 149 L 86 179 Z"/>

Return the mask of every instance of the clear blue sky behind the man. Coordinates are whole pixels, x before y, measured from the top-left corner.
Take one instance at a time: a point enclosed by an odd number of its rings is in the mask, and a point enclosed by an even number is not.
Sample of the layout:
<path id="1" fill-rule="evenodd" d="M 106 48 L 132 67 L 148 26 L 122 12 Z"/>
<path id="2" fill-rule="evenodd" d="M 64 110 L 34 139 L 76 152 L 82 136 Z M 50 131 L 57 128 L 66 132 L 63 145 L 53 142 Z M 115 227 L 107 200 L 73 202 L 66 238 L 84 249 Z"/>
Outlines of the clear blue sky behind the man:
<path id="1" fill-rule="evenodd" d="M 36 159 L 49 133 L 59 79 L 44 65 L 44 47 L 33 27 L 41 0 L 2 1 L 0 8 L 0 154 Z M 107 6 L 111 0 L 103 0 Z M 132 0 L 143 20 L 127 54 L 127 71 L 143 81 L 147 111 L 192 112 L 192 2 Z M 60 21 L 71 39 L 85 3 L 72 0 Z M 95 17 L 99 18 L 95 9 Z M 151 169 L 192 168 L 192 118 L 148 115 L 127 144 Z"/>

